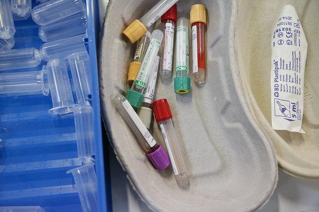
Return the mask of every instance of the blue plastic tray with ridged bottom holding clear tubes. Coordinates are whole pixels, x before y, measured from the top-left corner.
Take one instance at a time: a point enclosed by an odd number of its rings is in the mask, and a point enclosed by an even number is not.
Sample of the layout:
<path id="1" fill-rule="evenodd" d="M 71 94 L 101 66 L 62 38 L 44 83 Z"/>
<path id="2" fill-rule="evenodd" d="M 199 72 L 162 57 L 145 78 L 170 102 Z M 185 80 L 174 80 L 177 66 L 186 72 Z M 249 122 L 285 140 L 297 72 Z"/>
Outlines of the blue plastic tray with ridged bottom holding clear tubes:
<path id="1" fill-rule="evenodd" d="M 32 1 L 32 7 L 36 4 Z M 96 37 L 100 26 L 97 6 L 97 1 L 88 0 L 95 169 L 99 211 L 105 212 L 111 211 L 111 195 L 106 195 L 106 191 L 110 193 L 110 185 L 109 179 L 105 179 L 100 118 L 96 57 Z M 31 17 L 14 21 L 14 24 L 16 33 L 13 49 L 39 49 L 42 41 L 38 37 L 38 26 Z M 38 67 L 15 71 L 41 70 L 42 65 L 45 65 L 44 61 Z M 81 165 L 77 158 L 74 119 L 73 116 L 49 115 L 51 107 L 50 95 L 0 95 L 0 139 L 4 145 L 4 148 L 0 148 L 0 165 L 4 165 L 0 173 L 0 206 L 40 206 L 46 212 L 82 211 L 73 177 L 66 174 L 67 170 Z"/>

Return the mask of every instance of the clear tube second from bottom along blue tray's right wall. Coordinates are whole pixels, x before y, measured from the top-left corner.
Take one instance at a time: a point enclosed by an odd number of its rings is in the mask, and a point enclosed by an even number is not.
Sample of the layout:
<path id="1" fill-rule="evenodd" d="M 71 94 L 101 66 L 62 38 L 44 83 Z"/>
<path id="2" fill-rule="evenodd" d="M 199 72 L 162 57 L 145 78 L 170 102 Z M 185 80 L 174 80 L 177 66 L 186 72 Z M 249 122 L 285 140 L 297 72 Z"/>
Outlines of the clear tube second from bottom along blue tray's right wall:
<path id="1" fill-rule="evenodd" d="M 75 107 L 73 113 L 78 156 L 83 162 L 90 162 L 95 155 L 92 107 Z"/>

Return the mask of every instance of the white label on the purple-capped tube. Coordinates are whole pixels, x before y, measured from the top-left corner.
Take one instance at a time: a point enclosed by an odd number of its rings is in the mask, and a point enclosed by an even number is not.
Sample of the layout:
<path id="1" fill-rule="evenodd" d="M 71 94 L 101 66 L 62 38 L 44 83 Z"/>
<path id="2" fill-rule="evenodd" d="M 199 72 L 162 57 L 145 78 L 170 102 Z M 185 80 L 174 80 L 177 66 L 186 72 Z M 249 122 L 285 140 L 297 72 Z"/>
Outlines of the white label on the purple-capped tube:
<path id="1" fill-rule="evenodd" d="M 129 114 L 129 116 L 131 117 L 134 124 L 137 126 L 137 128 L 141 132 L 141 134 L 143 135 L 143 137 L 145 138 L 145 140 L 148 142 L 148 144 L 151 147 L 155 146 L 156 141 L 154 140 L 153 136 L 148 131 L 148 129 L 145 127 L 144 123 L 142 122 L 142 120 L 140 119 L 138 114 L 135 112 L 135 110 L 131 106 L 130 102 L 128 100 L 125 100 L 122 103 L 122 105 L 123 105 L 124 109 L 126 110 L 126 112 Z"/>

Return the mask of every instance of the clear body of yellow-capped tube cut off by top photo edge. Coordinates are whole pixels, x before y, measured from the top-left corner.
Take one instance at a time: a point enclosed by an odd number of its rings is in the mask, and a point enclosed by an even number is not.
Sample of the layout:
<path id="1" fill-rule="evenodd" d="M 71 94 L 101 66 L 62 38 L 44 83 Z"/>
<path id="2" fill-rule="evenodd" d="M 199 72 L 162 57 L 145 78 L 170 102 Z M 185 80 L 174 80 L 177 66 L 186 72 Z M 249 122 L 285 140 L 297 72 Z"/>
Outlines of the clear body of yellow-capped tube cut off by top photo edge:
<path id="1" fill-rule="evenodd" d="M 155 21 L 157 21 L 160 16 L 162 16 L 162 14 L 164 14 L 177 1 L 178 0 L 160 0 L 140 18 L 141 23 L 143 23 L 147 28 L 152 26 Z"/>

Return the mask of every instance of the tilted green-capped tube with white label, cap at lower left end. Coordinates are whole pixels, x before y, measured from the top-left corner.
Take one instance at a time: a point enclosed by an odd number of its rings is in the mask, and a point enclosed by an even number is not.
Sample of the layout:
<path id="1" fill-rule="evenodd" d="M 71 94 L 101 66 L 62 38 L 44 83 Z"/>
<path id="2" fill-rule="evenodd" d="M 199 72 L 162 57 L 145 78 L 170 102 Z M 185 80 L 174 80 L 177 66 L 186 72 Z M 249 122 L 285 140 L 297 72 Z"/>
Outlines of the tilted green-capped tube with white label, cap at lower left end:
<path id="1" fill-rule="evenodd" d="M 128 90 L 126 94 L 127 100 L 130 102 L 132 107 L 136 109 L 140 108 L 141 102 L 143 100 L 146 83 L 148 82 L 150 73 L 152 71 L 153 62 L 158 55 L 162 39 L 163 33 L 158 29 L 154 30 L 138 75 L 133 82 L 132 88 Z"/>

